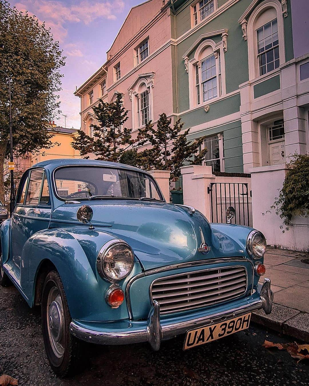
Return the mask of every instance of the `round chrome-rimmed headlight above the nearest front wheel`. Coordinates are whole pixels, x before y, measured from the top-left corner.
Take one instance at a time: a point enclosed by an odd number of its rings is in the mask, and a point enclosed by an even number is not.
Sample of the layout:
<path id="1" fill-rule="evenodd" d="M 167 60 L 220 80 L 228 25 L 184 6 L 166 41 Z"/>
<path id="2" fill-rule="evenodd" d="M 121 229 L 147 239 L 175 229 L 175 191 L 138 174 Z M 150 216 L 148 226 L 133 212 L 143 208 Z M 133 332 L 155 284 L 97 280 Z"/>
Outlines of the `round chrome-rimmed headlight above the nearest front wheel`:
<path id="1" fill-rule="evenodd" d="M 132 271 L 133 264 L 132 248 L 123 240 L 107 242 L 98 253 L 98 273 L 112 283 L 124 279 Z"/>

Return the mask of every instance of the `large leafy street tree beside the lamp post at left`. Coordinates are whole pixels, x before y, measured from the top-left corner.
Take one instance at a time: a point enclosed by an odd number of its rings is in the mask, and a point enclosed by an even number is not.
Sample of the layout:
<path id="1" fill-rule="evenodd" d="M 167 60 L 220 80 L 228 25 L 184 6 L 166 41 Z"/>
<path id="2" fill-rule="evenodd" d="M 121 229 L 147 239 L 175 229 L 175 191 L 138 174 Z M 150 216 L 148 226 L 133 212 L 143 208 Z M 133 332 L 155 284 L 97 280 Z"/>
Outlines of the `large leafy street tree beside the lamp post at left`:
<path id="1" fill-rule="evenodd" d="M 59 70 L 65 64 L 59 42 L 34 16 L 0 0 L 0 199 L 4 200 L 3 165 L 10 149 L 11 79 L 14 155 L 51 147 L 46 122 L 59 113 Z"/>

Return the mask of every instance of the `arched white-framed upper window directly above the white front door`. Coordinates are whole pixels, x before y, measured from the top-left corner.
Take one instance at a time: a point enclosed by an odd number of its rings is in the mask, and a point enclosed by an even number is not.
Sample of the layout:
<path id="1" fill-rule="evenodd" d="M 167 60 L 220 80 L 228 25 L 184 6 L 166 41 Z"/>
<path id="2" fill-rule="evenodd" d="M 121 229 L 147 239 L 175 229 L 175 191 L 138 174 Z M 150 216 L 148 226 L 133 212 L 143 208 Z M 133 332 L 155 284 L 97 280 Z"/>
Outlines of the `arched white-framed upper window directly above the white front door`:
<path id="1" fill-rule="evenodd" d="M 279 68 L 285 62 L 281 4 L 276 0 L 262 2 L 250 15 L 246 29 L 249 79 L 252 80 Z"/>

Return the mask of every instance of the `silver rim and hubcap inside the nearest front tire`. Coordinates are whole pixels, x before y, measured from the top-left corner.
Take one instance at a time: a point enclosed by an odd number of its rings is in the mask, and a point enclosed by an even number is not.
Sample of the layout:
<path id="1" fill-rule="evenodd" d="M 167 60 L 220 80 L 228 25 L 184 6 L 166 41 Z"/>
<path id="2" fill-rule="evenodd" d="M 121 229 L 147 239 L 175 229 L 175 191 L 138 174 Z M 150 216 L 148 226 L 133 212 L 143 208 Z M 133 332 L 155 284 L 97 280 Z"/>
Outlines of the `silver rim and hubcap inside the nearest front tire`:
<path id="1" fill-rule="evenodd" d="M 63 304 L 58 288 L 49 291 L 47 303 L 47 326 L 49 341 L 54 354 L 61 358 L 65 352 Z"/>

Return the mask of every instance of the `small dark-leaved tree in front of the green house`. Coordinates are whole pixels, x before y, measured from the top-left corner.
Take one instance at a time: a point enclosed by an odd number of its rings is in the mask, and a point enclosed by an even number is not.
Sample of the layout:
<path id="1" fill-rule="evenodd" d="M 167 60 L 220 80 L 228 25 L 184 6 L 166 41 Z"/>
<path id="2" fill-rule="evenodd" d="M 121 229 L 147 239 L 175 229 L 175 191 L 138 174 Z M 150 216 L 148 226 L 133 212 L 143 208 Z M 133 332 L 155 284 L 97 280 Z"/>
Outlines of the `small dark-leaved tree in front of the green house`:
<path id="1" fill-rule="evenodd" d="M 205 137 L 197 141 L 188 142 L 189 130 L 182 134 L 184 123 L 178 119 L 171 126 L 171 118 L 168 119 L 165 113 L 159 116 L 157 125 L 150 121 L 145 127 L 139 129 L 137 143 L 144 146 L 150 143 L 151 148 L 139 152 L 139 160 L 144 169 L 170 170 L 171 179 L 180 176 L 180 167 L 185 163 L 201 164 L 207 149 L 199 153 L 199 147 Z"/>

